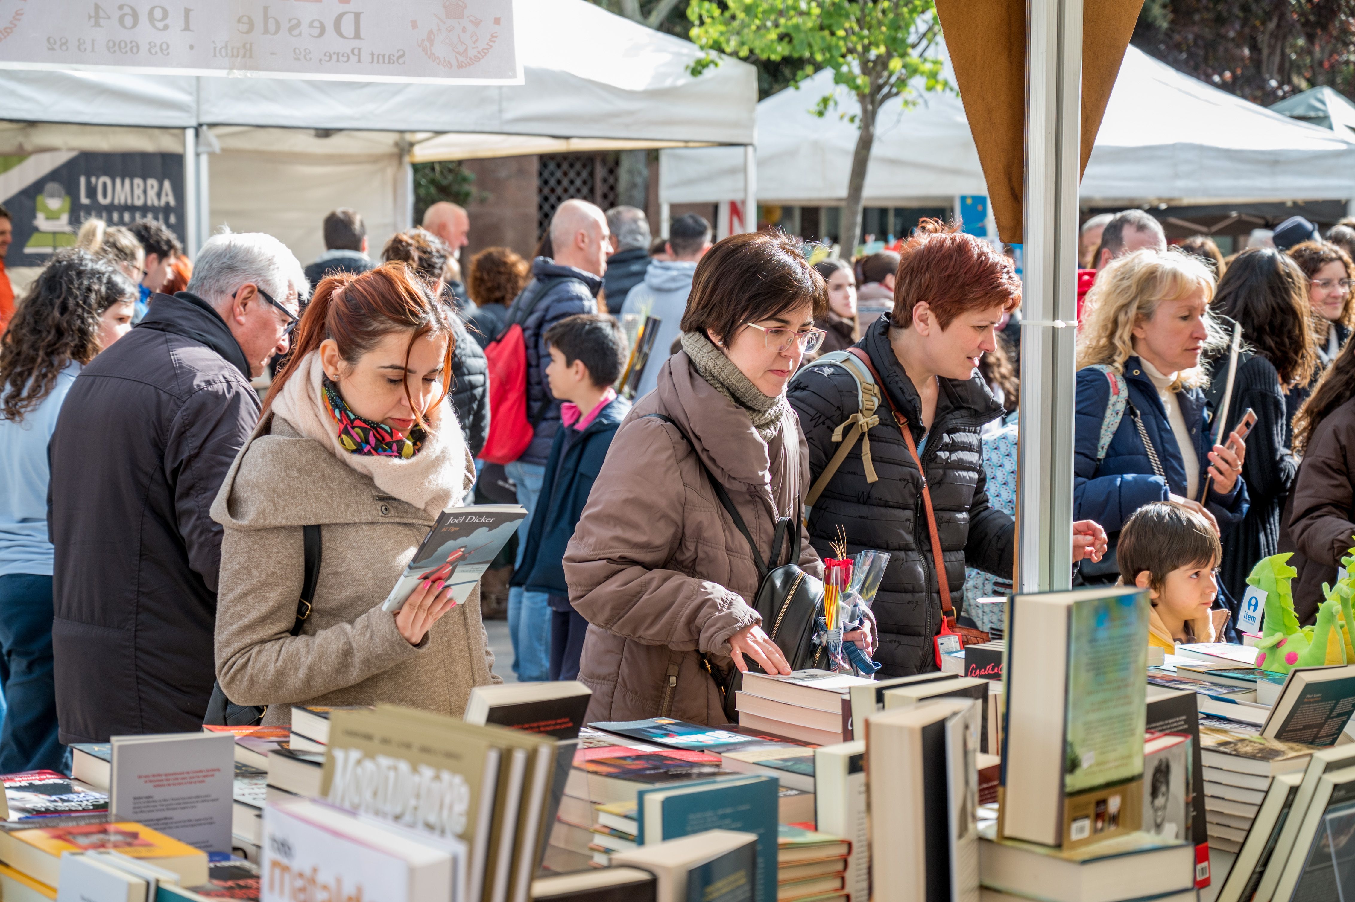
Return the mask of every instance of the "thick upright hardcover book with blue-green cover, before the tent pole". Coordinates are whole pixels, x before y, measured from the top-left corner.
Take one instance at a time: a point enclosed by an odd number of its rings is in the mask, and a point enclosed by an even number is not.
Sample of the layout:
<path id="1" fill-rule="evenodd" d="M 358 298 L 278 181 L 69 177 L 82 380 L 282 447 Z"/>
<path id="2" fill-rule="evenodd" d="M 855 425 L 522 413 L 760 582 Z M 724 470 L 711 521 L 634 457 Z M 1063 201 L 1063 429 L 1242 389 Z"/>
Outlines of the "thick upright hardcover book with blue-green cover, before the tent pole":
<path id="1" fill-rule="evenodd" d="M 1138 830 L 1148 611 L 1134 588 L 1014 596 L 1003 837 L 1075 848 Z"/>

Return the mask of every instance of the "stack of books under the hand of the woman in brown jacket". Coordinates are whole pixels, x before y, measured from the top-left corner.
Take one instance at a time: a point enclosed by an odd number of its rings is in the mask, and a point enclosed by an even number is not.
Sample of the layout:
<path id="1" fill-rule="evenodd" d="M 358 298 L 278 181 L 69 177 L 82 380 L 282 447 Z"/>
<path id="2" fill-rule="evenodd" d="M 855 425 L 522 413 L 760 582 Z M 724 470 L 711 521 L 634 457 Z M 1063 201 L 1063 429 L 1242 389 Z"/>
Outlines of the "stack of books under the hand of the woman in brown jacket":
<path id="1" fill-rule="evenodd" d="M 871 680 L 829 670 L 790 676 L 745 673 L 736 706 L 738 723 L 816 745 L 850 742 L 851 688 Z"/>

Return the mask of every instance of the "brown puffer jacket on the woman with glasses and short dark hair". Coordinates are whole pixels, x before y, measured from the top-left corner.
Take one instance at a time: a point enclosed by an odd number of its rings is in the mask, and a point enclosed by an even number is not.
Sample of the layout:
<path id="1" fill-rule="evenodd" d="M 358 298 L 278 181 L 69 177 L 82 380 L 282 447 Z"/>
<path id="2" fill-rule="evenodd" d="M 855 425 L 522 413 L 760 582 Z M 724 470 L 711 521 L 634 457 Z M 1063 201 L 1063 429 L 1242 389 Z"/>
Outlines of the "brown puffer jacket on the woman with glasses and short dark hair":
<path id="1" fill-rule="evenodd" d="M 671 417 L 696 447 L 663 420 L 645 418 L 650 413 Z M 759 580 L 748 540 L 720 507 L 696 454 L 729 492 L 760 554 L 771 551 L 778 516 L 798 517 L 809 454 L 794 412 L 768 446 L 686 352 L 671 356 L 657 389 L 617 431 L 565 553 L 569 599 L 589 623 L 579 677 L 593 692 L 589 721 L 726 722 L 699 653 L 717 668 L 733 666 L 729 637 L 760 623 L 749 607 Z M 805 535 L 799 563 L 822 576 Z"/>

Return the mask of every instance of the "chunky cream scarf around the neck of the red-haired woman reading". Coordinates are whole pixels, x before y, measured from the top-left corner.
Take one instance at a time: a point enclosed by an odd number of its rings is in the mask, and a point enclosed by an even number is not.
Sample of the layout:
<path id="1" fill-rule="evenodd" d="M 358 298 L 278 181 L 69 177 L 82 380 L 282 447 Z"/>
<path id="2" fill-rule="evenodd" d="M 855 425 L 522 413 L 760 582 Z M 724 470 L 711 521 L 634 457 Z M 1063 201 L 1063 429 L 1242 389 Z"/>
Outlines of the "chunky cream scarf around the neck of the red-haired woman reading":
<path id="1" fill-rule="evenodd" d="M 371 477 L 377 488 L 430 516 L 455 507 L 465 496 L 466 440 L 451 409 L 443 398 L 428 412 L 428 437 L 409 459 L 352 454 L 339 444 L 339 425 L 329 416 L 320 389 L 324 366 L 312 351 L 272 400 L 272 413 L 290 423 L 297 432 L 321 443 L 358 473 Z"/>

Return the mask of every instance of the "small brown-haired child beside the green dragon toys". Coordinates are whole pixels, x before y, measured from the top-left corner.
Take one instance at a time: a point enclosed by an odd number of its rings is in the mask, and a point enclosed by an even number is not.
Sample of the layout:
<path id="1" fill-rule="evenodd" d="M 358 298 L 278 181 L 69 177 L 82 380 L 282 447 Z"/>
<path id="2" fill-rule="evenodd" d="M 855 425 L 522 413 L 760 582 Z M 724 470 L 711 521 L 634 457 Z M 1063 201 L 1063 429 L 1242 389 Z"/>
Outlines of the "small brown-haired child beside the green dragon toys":
<path id="1" fill-rule="evenodd" d="M 1218 531 L 1183 504 L 1154 501 L 1129 517 L 1119 534 L 1119 576 L 1123 585 L 1148 589 L 1148 647 L 1173 653 L 1177 642 L 1213 642 L 1222 632 L 1228 611 L 1213 609 L 1222 557 Z"/>

